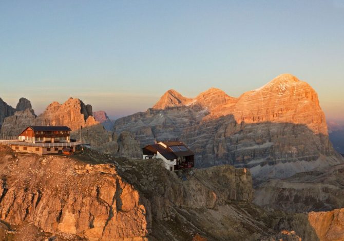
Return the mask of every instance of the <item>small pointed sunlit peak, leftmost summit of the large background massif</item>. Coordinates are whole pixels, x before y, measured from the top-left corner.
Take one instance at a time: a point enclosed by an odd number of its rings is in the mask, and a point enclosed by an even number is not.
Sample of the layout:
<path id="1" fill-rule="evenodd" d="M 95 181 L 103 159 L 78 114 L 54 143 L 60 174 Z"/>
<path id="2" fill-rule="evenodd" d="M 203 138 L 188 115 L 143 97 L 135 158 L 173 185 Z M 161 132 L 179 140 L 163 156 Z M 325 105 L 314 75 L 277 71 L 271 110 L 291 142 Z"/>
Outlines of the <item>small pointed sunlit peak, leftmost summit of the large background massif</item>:
<path id="1" fill-rule="evenodd" d="M 153 106 L 153 109 L 165 109 L 166 107 L 183 106 L 192 99 L 186 98 L 179 92 L 170 89 L 167 90 L 159 101 Z"/>

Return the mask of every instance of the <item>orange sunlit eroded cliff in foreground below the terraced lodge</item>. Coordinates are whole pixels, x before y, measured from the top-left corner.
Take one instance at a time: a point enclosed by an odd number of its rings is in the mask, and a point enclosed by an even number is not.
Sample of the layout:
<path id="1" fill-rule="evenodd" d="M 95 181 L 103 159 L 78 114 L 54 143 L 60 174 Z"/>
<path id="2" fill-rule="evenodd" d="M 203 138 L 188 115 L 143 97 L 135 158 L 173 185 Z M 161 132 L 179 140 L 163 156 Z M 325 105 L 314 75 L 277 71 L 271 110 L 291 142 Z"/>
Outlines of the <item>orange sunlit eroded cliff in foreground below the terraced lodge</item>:
<path id="1" fill-rule="evenodd" d="M 9 224 L 89 240 L 146 240 L 149 233 L 146 198 L 113 165 L 8 154 L 1 157 L 0 176 L 0 219 Z"/>

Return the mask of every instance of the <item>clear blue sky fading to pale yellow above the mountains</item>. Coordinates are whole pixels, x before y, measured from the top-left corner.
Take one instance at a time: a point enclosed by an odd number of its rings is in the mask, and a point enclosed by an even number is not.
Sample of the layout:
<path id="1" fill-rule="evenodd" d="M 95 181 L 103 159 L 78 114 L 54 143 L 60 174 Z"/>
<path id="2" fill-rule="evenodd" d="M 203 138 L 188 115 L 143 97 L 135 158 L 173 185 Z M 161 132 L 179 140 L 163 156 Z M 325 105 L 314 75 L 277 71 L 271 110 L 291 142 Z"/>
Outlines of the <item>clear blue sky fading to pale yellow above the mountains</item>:
<path id="1" fill-rule="evenodd" d="M 281 73 L 344 122 L 344 0 L 0 0 L 0 97 L 36 114 L 77 97 L 118 118 L 168 89 L 238 97 Z"/>

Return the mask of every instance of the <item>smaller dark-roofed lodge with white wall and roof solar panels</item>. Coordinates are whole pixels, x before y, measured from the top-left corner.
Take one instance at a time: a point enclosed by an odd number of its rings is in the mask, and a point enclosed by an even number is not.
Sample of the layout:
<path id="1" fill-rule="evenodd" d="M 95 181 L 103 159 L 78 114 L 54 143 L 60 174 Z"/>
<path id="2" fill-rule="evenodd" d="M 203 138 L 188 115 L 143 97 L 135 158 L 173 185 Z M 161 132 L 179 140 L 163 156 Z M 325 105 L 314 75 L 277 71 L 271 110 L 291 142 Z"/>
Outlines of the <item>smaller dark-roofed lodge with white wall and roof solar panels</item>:
<path id="1" fill-rule="evenodd" d="M 143 159 L 160 158 L 167 170 L 192 168 L 195 154 L 182 142 L 159 142 L 142 148 Z"/>

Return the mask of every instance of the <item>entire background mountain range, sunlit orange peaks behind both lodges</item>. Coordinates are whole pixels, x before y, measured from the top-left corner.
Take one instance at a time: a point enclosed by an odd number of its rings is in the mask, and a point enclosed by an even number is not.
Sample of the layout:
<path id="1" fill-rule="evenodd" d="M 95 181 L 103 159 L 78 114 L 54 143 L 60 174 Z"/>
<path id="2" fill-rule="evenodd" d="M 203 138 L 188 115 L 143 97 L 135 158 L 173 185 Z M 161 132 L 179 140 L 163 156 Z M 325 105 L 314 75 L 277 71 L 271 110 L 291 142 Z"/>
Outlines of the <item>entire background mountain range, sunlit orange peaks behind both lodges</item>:
<path id="1" fill-rule="evenodd" d="M 279 75 L 238 98 L 216 88 L 194 98 L 168 90 L 152 108 L 114 123 L 105 112 L 93 113 L 77 98 L 53 102 L 39 116 L 26 106 L 2 114 L 7 115 L 2 135 L 15 136 L 28 125 L 68 125 L 77 138 L 83 127 L 84 143 L 105 153 L 137 158 L 140 148 L 155 140 L 179 139 L 195 152 L 196 167 L 247 167 L 255 180 L 289 177 L 343 162 L 329 140 L 317 93 L 291 74 Z"/>

